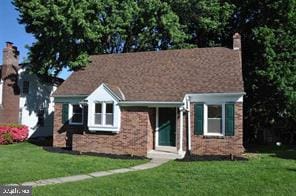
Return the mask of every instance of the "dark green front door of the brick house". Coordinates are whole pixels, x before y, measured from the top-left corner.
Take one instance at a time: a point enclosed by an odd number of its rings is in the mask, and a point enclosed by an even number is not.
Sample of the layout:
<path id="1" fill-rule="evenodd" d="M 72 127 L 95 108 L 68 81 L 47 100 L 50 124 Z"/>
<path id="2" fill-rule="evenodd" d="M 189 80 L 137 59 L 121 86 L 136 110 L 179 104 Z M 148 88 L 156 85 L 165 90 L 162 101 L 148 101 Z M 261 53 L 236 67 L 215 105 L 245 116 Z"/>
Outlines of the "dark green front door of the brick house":
<path id="1" fill-rule="evenodd" d="M 176 146 L 176 108 L 159 108 L 158 119 L 158 145 Z"/>

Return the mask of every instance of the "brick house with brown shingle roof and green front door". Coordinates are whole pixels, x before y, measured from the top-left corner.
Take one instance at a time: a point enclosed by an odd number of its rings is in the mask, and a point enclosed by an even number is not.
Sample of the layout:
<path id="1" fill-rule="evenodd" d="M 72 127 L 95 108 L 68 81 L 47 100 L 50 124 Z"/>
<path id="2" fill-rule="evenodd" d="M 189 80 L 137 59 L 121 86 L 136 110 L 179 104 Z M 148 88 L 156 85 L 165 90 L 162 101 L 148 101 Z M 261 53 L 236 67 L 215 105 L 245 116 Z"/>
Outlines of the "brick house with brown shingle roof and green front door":
<path id="1" fill-rule="evenodd" d="M 233 39 L 232 49 L 91 56 L 53 95 L 53 145 L 138 156 L 241 154 L 240 35 Z"/>

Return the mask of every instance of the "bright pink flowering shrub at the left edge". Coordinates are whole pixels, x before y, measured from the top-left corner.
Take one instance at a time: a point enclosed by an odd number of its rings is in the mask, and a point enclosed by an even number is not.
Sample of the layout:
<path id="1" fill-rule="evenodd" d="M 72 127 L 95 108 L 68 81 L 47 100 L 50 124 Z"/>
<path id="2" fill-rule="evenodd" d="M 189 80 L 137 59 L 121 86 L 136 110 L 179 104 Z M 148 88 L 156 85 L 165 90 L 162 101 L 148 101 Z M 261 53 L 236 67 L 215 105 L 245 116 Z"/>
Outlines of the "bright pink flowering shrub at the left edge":
<path id="1" fill-rule="evenodd" d="M 4 124 L 0 125 L 0 144 L 22 142 L 28 138 L 29 129 L 25 125 Z"/>

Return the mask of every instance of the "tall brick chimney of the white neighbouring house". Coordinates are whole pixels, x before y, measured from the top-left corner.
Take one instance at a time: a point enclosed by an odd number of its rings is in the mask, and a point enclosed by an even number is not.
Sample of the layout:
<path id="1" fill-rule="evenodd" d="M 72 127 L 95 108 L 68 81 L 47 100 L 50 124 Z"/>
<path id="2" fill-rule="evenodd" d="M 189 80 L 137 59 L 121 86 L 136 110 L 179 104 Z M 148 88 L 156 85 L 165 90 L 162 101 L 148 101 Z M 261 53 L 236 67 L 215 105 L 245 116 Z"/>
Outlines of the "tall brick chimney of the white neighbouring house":
<path id="1" fill-rule="evenodd" d="M 6 42 L 6 47 L 3 49 L 1 69 L 3 84 L 0 123 L 18 123 L 19 120 L 18 57 L 19 51 L 17 48 L 13 46 L 12 42 Z"/>

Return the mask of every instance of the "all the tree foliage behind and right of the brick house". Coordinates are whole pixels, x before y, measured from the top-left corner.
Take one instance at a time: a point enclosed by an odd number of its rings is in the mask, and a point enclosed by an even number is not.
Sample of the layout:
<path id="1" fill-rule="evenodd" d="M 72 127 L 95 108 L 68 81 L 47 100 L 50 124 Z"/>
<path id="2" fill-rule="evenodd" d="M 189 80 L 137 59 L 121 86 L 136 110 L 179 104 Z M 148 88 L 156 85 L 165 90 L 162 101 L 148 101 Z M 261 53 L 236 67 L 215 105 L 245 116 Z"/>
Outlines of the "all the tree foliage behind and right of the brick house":
<path id="1" fill-rule="evenodd" d="M 98 53 L 227 46 L 243 41 L 245 133 L 296 125 L 296 0 L 13 0 L 36 42 L 39 76 L 78 70 Z"/>

